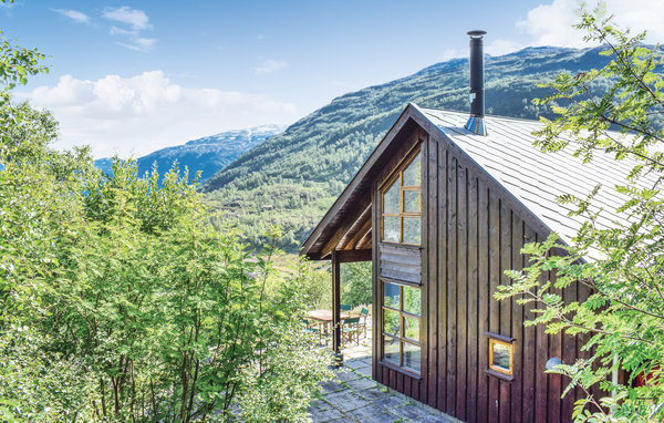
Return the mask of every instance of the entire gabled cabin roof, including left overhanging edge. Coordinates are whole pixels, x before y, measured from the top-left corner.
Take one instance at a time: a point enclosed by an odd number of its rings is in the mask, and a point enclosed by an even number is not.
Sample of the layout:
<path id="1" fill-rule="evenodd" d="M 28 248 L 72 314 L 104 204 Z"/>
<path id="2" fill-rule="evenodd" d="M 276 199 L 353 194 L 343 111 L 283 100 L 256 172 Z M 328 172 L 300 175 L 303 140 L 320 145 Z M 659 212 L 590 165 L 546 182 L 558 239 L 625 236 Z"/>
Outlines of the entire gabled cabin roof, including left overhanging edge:
<path id="1" fill-rule="evenodd" d="M 446 140 L 459 148 L 520 203 L 535 221 L 540 223 L 547 231 L 556 231 L 568 245 L 573 245 L 573 238 L 583 218 L 569 216 L 572 207 L 557 202 L 561 195 L 571 194 L 585 198 L 601 184 L 602 189 L 593 200 L 593 205 L 603 208 L 596 221 L 598 226 L 609 228 L 627 225 L 624 216 L 616 213 L 627 197 L 616 193 L 614 188 L 625 184 L 627 175 L 636 164 L 634 159 L 624 158 L 619 162 L 613 154 L 596 152 L 591 162 L 583 163 L 581 157 L 572 155 L 572 148 L 543 153 L 535 147 L 536 137 L 532 132 L 543 127 L 538 121 L 486 115 L 488 135 L 481 136 L 464 127 L 467 118 L 466 112 L 424 109 L 408 104 L 304 241 L 302 254 L 311 258 L 323 258 L 320 255 L 323 245 L 333 239 L 333 235 L 343 227 L 344 221 L 355 219 L 364 209 L 352 205 L 370 202 L 369 187 L 375 177 L 376 163 L 380 163 L 381 157 L 392 154 L 391 147 L 398 142 L 398 134 L 409 127 L 407 122 L 414 122 L 434 138 Z M 615 133 L 615 136 L 624 135 Z M 573 146 L 574 141 L 570 144 Z M 652 187 L 655 180 L 656 175 L 644 175 L 636 185 Z M 598 251 L 590 251 L 585 258 L 592 260 L 599 257 Z"/>

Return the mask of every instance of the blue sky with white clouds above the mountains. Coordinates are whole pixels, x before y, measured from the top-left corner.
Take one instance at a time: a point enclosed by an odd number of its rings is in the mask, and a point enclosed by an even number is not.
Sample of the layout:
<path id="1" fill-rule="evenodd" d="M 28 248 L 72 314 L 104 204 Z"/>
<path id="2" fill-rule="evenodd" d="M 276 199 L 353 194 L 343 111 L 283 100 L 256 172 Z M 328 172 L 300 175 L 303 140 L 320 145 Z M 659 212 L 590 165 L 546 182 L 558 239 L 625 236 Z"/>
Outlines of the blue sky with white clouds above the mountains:
<path id="1" fill-rule="evenodd" d="M 664 1 L 608 0 L 664 40 Z M 594 6 L 594 2 L 590 2 Z M 584 47 L 575 0 L 14 0 L 7 40 L 48 55 L 14 91 L 52 111 L 58 148 L 141 156 L 229 130 L 292 124 L 334 97 L 468 54 Z"/>

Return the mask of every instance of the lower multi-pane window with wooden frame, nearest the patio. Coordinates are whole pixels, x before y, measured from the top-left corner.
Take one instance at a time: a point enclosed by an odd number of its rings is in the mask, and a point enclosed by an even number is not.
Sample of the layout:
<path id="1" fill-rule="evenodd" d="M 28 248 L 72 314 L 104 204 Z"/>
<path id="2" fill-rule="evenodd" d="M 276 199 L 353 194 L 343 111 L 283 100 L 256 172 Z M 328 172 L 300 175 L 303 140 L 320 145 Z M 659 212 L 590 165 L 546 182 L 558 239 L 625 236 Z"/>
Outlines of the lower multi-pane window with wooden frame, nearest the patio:
<path id="1" fill-rule="evenodd" d="M 387 367 L 391 367 L 398 371 L 404 371 L 406 373 L 413 374 L 416 378 L 421 378 L 422 375 L 422 285 L 411 283 L 401 280 L 394 280 L 390 278 L 378 278 L 381 282 L 381 363 Z M 385 283 L 392 283 L 400 287 L 398 290 L 398 309 L 394 307 L 388 307 L 385 305 Z M 412 312 L 404 310 L 404 288 L 413 288 L 416 289 L 419 295 L 419 314 L 414 314 Z M 392 312 L 398 313 L 398 322 L 400 322 L 400 333 L 398 336 L 394 336 L 392 333 L 385 332 L 385 310 L 390 310 Z M 417 319 L 418 324 L 418 333 L 417 340 L 412 338 L 407 338 L 405 334 L 405 319 Z M 394 360 L 390 360 L 385 357 L 385 339 L 396 340 L 398 342 L 398 363 Z M 415 370 L 413 368 L 404 365 L 404 349 L 405 344 L 415 345 L 419 349 L 419 370 Z"/>

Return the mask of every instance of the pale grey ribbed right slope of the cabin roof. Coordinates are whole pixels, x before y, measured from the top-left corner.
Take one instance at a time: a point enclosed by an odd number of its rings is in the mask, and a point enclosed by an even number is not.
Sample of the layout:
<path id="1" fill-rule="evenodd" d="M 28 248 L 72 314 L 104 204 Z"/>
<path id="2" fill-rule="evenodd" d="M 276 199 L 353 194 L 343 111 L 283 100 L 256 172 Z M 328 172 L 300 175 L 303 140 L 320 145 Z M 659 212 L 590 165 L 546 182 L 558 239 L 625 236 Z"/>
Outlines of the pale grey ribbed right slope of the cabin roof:
<path id="1" fill-rule="evenodd" d="M 614 187 L 625 184 L 636 164 L 634 159 L 619 162 L 613 154 L 598 152 L 591 162 L 583 163 L 581 157 L 572 155 L 572 148 L 543 153 L 532 145 L 536 141 L 532 132 L 543 127 L 538 121 L 487 115 L 488 135 L 479 136 L 464 127 L 467 113 L 417 109 L 544 225 L 560 235 L 566 244 L 572 244 L 583 219 L 570 217 L 572 207 L 557 202 L 557 197 L 563 194 L 585 198 L 601 184 L 602 189 L 593 200 L 594 205 L 604 209 L 598 218 L 598 226 L 608 228 L 627 224 L 616 213 L 627 197 L 618 194 Z M 574 142 L 571 144 L 573 146 Z M 644 175 L 637 185 L 652 187 L 655 179 L 655 175 Z"/>

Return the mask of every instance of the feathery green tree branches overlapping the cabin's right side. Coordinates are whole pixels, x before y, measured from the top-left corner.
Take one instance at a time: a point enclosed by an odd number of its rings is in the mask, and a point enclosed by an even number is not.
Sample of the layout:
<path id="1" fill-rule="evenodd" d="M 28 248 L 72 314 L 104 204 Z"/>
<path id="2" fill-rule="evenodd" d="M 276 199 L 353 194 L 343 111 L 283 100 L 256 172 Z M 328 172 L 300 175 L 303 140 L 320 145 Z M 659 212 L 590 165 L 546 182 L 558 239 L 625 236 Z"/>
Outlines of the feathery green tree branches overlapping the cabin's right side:
<path id="1" fill-rule="evenodd" d="M 588 393 L 575 404 L 577 421 L 662 421 L 664 80 L 655 73 L 662 52 L 658 47 L 643 45 L 645 33 L 632 35 L 618 28 L 602 6 L 593 11 L 581 9 L 577 27 L 588 31 L 587 40 L 604 44 L 602 54 L 611 62 L 575 75 L 560 74 L 546 85 L 554 94 L 539 104 L 564 101 L 567 105 L 554 107 L 560 116 L 546 121 L 537 133 L 538 144 L 543 151 L 572 149 L 584 161 L 609 154 L 632 172 L 621 186 L 598 186 L 585 198 L 562 196 L 559 200 L 575 205 L 573 215 L 584 218 L 574 245 L 561 246 L 556 236 L 528 245 L 522 252 L 530 256 L 531 266 L 522 272 L 509 272 L 513 283 L 501 287 L 496 297 L 517 297 L 521 303 L 535 306 L 538 317 L 527 324 L 546 324 L 549 333 L 583 337 L 589 358 L 553 370 L 571 379 L 566 393 L 573 392 L 574 386 Z M 609 89 L 594 90 L 599 80 Z M 612 128 L 619 133 L 610 132 Z M 623 205 L 604 210 L 594 199 L 601 189 L 624 198 Z M 606 213 L 624 220 L 610 218 L 612 225 L 601 225 Z M 551 281 L 541 277 L 548 271 L 558 278 Z M 566 302 L 556 293 L 575 283 L 591 292 L 588 300 Z M 629 375 L 625 383 L 610 382 L 611 372 L 618 370 Z M 645 382 L 636 388 L 640 374 Z M 589 388 L 594 383 L 614 396 L 593 398 Z"/>

